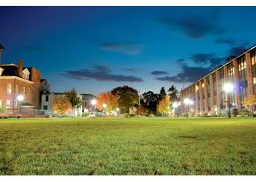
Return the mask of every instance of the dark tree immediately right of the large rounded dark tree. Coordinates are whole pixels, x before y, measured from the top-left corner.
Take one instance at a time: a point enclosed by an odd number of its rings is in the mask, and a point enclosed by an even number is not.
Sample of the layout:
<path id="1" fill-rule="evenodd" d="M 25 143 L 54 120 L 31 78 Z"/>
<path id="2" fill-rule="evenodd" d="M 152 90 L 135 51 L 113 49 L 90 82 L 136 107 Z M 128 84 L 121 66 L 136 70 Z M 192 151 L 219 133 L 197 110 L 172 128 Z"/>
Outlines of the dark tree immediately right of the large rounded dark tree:
<path id="1" fill-rule="evenodd" d="M 144 92 L 140 98 L 140 103 L 148 114 L 157 114 L 159 95 L 152 91 Z"/>

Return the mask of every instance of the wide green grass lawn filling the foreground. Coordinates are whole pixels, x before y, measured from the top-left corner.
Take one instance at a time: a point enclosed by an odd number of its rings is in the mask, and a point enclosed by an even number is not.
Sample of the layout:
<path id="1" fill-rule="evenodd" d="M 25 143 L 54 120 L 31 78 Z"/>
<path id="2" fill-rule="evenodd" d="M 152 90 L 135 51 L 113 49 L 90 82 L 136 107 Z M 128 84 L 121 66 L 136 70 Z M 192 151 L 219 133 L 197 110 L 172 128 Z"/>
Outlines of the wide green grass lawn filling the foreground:
<path id="1" fill-rule="evenodd" d="M 1 119 L 1 175 L 256 175 L 255 118 Z"/>

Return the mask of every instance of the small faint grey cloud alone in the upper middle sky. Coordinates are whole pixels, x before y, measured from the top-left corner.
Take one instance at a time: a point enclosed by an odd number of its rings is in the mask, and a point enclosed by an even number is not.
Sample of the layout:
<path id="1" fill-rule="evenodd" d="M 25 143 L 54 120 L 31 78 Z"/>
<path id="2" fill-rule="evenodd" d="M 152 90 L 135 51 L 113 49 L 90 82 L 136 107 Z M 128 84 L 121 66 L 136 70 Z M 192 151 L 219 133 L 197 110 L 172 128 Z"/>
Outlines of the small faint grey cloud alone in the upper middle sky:
<path id="1" fill-rule="evenodd" d="M 142 44 L 137 43 L 102 43 L 99 46 L 102 50 L 121 52 L 126 55 L 138 55 L 143 47 Z"/>

